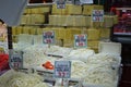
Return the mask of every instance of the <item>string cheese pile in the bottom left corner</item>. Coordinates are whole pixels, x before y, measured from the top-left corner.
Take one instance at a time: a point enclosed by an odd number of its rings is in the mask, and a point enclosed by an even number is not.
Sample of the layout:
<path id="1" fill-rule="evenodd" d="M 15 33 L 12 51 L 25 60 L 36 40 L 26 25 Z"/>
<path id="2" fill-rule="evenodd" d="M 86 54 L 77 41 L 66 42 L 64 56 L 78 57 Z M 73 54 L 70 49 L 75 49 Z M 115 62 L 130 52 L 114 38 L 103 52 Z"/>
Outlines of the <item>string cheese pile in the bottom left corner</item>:
<path id="1" fill-rule="evenodd" d="M 45 83 L 43 83 L 43 77 L 36 74 L 25 74 L 22 72 L 15 72 L 13 70 L 10 70 L 2 76 L 0 76 L 0 87 L 37 87 L 37 86 L 48 87 Z"/>

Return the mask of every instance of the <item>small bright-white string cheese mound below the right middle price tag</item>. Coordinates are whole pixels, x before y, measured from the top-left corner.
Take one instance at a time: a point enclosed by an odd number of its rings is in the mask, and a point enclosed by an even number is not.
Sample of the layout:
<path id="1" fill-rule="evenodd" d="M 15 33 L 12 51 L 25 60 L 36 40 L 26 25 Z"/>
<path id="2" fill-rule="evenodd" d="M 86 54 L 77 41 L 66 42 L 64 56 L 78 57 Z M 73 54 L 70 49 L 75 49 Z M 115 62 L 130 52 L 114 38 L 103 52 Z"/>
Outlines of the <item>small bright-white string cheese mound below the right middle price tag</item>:
<path id="1" fill-rule="evenodd" d="M 87 61 L 88 57 L 92 57 L 95 54 L 94 50 L 91 49 L 76 49 L 72 50 L 70 54 L 68 55 L 69 59 L 72 60 L 81 60 L 83 62 Z"/>

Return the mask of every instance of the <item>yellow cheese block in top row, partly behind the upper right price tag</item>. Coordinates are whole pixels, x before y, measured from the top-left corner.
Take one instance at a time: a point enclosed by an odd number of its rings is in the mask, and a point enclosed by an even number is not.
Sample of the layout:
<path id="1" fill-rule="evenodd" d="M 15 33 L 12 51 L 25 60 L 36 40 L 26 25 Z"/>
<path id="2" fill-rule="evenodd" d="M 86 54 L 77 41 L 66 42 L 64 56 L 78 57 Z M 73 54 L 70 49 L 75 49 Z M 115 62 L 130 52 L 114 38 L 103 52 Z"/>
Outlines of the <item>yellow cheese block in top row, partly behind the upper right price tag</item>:
<path id="1" fill-rule="evenodd" d="M 104 10 L 104 7 L 103 5 L 96 5 L 96 4 L 83 5 L 83 14 L 84 15 L 92 15 L 93 10 Z"/>

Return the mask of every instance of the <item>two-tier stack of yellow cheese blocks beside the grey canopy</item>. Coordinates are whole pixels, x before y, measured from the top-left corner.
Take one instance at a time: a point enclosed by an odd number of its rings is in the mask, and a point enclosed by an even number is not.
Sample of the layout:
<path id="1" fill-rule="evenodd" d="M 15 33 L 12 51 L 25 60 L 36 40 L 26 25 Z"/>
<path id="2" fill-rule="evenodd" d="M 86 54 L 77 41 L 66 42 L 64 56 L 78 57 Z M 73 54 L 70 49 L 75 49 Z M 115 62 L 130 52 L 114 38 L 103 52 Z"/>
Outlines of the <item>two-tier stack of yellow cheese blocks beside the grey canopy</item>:
<path id="1" fill-rule="evenodd" d="M 21 24 L 43 24 L 46 20 L 45 14 L 49 11 L 49 7 L 25 9 Z"/>

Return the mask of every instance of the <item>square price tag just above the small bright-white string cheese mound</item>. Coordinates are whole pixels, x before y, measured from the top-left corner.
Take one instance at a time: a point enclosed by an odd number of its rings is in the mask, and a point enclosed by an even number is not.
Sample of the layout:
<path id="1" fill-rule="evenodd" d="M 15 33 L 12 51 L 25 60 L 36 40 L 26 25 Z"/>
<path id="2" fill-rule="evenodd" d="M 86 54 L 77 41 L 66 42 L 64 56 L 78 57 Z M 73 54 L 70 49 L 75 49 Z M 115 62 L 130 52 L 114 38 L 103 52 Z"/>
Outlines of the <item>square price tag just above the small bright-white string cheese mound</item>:
<path id="1" fill-rule="evenodd" d="M 87 36 L 74 35 L 74 48 L 87 48 Z"/>

